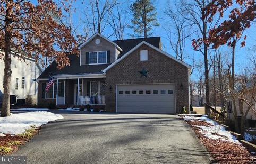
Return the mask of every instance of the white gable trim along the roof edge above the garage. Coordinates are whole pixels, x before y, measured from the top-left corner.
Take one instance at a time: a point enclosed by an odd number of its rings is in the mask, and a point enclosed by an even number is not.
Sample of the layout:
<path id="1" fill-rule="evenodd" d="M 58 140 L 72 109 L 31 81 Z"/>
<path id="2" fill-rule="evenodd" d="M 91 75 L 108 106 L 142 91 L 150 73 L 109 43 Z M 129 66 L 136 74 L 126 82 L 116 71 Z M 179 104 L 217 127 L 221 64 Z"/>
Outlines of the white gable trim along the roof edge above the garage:
<path id="1" fill-rule="evenodd" d="M 142 41 L 140 42 L 138 45 L 136 45 L 134 48 L 132 48 L 130 51 L 128 51 L 127 53 L 125 53 L 121 58 L 117 59 L 115 62 L 113 62 L 111 65 L 109 65 L 107 68 L 105 68 L 103 70 L 103 72 L 106 72 L 107 70 L 109 70 L 110 68 L 114 67 L 118 62 L 120 62 L 121 60 L 123 60 L 125 57 L 127 57 L 129 54 L 131 54 L 133 51 L 135 51 L 136 49 L 138 49 L 142 44 L 146 44 L 148 45 L 150 48 L 164 54 L 165 56 L 177 61 L 178 63 L 181 63 L 183 66 L 187 67 L 188 69 L 191 69 L 191 66 L 188 65 L 187 63 L 181 61 L 181 60 L 178 60 L 176 59 L 175 57 L 171 56 L 170 54 L 164 52 L 163 50 L 160 50 L 158 49 L 157 47 L 153 46 L 152 44 L 149 44 L 148 42 L 146 41 Z"/>

